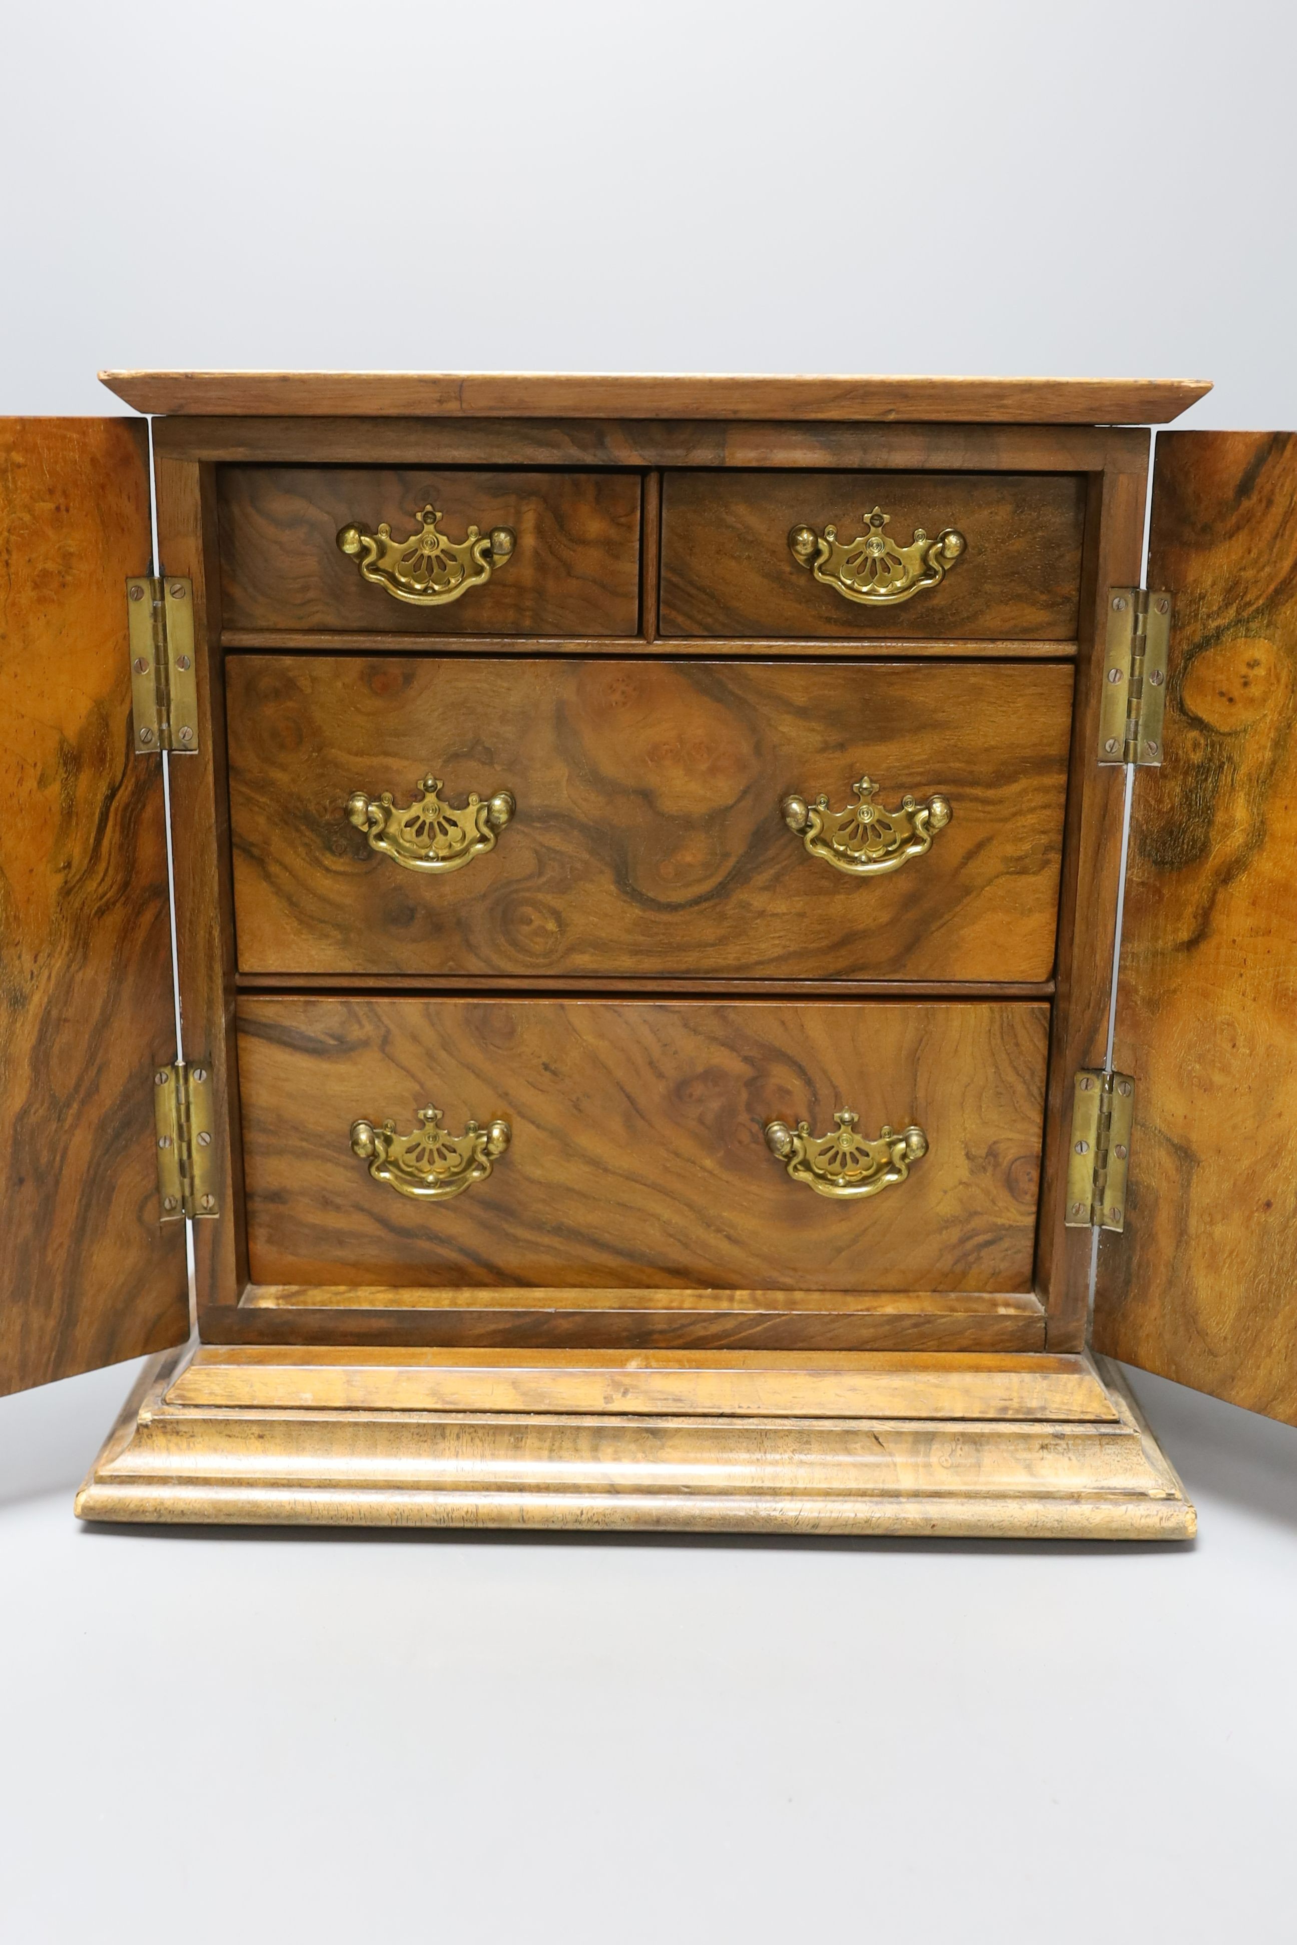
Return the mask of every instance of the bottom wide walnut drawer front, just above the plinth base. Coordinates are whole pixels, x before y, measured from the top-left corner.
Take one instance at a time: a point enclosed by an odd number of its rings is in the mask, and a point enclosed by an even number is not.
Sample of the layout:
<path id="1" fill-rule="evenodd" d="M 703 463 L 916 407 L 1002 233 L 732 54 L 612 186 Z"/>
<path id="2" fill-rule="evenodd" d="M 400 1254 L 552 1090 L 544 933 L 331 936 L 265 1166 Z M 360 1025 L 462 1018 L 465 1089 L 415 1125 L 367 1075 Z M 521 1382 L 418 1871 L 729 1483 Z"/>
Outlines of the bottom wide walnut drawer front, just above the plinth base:
<path id="1" fill-rule="evenodd" d="M 1031 1290 L 1046 1039 L 1036 1002 L 245 996 L 251 1276 Z M 511 1136 L 498 1151 L 496 1130 L 488 1173 L 438 1200 L 375 1179 L 393 1159 L 364 1126 L 391 1118 L 403 1138 L 426 1105 L 451 1136 L 471 1118 L 482 1144 L 498 1120 Z M 928 1151 L 869 1196 L 817 1192 L 764 1128 L 807 1120 L 819 1138 L 844 1109 L 871 1140 L 883 1122 L 922 1128 Z M 395 1173 L 412 1169 L 399 1153 Z"/>

